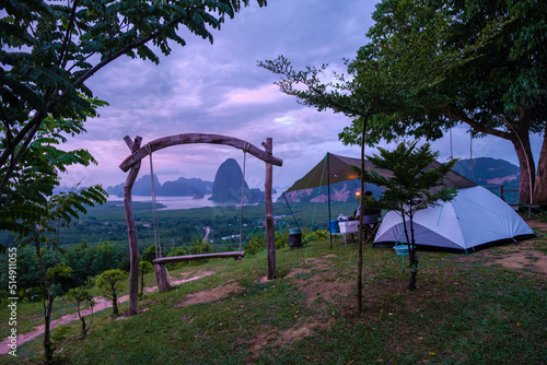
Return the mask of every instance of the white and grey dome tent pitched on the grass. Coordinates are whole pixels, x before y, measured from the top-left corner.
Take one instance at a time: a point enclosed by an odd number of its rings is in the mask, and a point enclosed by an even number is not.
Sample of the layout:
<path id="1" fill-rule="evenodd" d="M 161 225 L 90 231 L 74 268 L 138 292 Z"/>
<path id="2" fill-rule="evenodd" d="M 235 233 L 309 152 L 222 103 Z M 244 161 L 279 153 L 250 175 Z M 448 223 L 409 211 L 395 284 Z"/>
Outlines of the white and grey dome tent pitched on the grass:
<path id="1" fill-rule="evenodd" d="M 467 252 L 482 245 L 535 236 L 508 203 L 480 186 L 458 189 L 451 202 L 418 211 L 414 222 L 416 244 L 422 248 Z M 374 245 L 397 242 L 407 242 L 403 220 L 391 211 L 379 227 Z"/>

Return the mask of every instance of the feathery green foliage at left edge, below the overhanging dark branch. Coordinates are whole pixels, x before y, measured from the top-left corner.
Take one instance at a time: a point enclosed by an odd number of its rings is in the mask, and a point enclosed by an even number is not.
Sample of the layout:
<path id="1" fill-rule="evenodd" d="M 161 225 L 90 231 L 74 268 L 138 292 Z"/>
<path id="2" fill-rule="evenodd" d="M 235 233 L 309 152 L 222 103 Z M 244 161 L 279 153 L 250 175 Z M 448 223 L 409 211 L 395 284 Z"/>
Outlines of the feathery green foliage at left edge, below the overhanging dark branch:
<path id="1" fill-rule="evenodd" d="M 100 101 L 90 101 L 90 103 L 93 108 L 104 105 Z M 1 129 L 2 127 L 0 127 Z M 24 157 L 18 165 L 19 168 L 12 172 L 12 179 L 7 180 L 0 195 L 0 229 L 11 231 L 19 237 L 25 237 L 32 234 L 34 229 L 33 223 L 39 224 L 39 222 L 49 222 L 51 219 L 57 220 L 55 217 L 56 213 L 51 211 L 55 204 L 49 201 L 54 188 L 59 185 L 59 173 L 66 172 L 70 165 L 89 166 L 90 164 L 96 164 L 96 161 L 86 150 L 63 151 L 58 148 L 58 145 L 67 141 L 66 134 L 75 136 L 82 131 L 84 131 L 82 119 L 57 120 L 51 115 L 44 119 L 35 139 L 24 151 Z M 8 174 L 1 167 L 0 170 Z M 7 176 L 3 175 L 4 179 Z M 65 205 L 65 203 L 59 205 L 63 207 L 59 213 L 65 208 L 69 208 L 69 210 L 61 213 L 63 216 L 61 216 L 60 221 L 63 221 L 65 224 L 70 223 L 66 220 L 68 216 L 77 217 L 75 211 L 86 204 L 81 201 L 82 199 L 88 198 L 96 202 L 106 201 L 106 191 L 100 186 L 94 186 L 89 190 L 83 189 L 79 198 L 72 200 L 72 198 L 77 197 L 78 195 L 69 195 L 65 197 L 68 198 L 69 205 Z M 65 198 L 59 195 L 51 202 Z M 77 203 L 78 207 L 70 208 L 71 202 Z"/>

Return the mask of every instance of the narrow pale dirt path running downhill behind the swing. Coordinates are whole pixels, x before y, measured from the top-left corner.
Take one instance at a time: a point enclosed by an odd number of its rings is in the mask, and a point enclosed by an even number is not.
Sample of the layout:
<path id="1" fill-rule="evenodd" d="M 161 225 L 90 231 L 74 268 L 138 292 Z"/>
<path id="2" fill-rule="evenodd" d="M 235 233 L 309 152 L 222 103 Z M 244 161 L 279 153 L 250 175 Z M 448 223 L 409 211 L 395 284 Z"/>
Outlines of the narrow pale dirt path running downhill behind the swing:
<path id="1" fill-rule="evenodd" d="M 198 280 L 198 279 L 211 275 L 214 272 L 212 272 L 212 271 L 205 271 L 205 272 L 200 273 L 197 276 L 191 276 L 191 278 L 188 278 L 188 279 L 173 281 L 172 284 L 173 285 L 178 285 L 178 284 L 187 283 L 189 281 Z M 158 286 L 149 286 L 149 287 L 144 289 L 144 291 L 147 293 L 154 292 L 156 290 L 158 290 Z M 95 297 L 93 299 L 96 303 L 95 306 L 93 307 L 93 313 L 96 313 L 96 311 L 100 311 L 100 310 L 104 310 L 106 308 L 112 307 L 112 302 L 103 298 L 102 296 L 97 296 L 97 297 Z M 129 301 L 129 294 L 120 296 L 118 298 L 118 303 L 124 303 L 124 302 L 127 302 L 127 301 Z M 83 316 L 88 316 L 88 315 L 91 315 L 91 310 L 89 310 L 89 309 L 88 310 L 82 310 L 81 314 Z M 54 328 L 56 328 L 59 325 L 66 325 L 66 323 L 69 323 L 71 321 L 73 321 L 73 320 L 79 320 L 79 319 L 80 318 L 78 317 L 78 313 L 73 313 L 73 314 L 66 315 L 66 316 L 62 316 L 61 318 L 53 320 L 50 327 L 51 327 L 51 330 L 53 330 Z M 22 345 L 23 343 L 25 343 L 27 341 L 31 341 L 31 340 L 37 338 L 40 334 L 44 334 L 44 331 L 45 331 L 45 326 L 42 325 L 42 326 L 35 327 L 34 331 L 22 333 L 22 334 L 18 334 L 18 346 Z M 0 354 L 7 354 L 11 350 L 9 348 L 9 344 L 10 344 L 10 339 L 8 339 L 8 338 L 0 343 Z"/>

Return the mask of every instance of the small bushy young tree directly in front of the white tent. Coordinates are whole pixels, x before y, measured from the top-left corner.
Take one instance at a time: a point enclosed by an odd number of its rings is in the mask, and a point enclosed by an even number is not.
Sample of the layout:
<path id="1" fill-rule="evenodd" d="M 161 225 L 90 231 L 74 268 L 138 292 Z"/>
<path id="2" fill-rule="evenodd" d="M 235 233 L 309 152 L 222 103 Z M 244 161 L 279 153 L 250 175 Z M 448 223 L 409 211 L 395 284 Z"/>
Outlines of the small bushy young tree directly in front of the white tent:
<path id="1" fill-rule="evenodd" d="M 418 256 L 414 235 L 416 212 L 430 205 L 447 202 L 456 196 L 455 189 L 440 188 L 444 176 L 452 170 L 457 160 L 434 166 L 438 152 L 432 152 L 426 143 L 417 148 L 418 142 L 401 142 L 389 152 L 379 148 L 380 156 L 366 156 L 377 168 L 393 172 L 393 177 L 384 177 L 375 170 L 359 170 L 363 181 L 385 187 L 381 198 L 375 201 L 377 208 L 397 211 L 403 220 L 410 261 L 410 282 L 408 290 L 416 289 L 418 275 Z M 409 234 L 410 233 L 410 234 Z"/>

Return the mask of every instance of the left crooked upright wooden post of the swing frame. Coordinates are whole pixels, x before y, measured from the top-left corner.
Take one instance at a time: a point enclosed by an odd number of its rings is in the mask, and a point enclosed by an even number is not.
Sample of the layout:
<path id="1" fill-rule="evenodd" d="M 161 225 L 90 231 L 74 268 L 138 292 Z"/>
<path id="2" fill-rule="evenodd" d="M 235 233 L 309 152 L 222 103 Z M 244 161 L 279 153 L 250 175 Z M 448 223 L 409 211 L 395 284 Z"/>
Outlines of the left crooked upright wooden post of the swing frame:
<path id="1" fill-rule="evenodd" d="M 124 138 L 131 152 L 140 149 L 142 138 L 137 136 L 135 141 L 131 141 L 129 136 Z M 127 236 L 129 239 L 129 316 L 136 315 L 139 304 L 139 243 L 137 238 L 137 224 L 135 223 L 131 190 L 139 175 L 140 161 L 131 166 L 127 175 L 126 185 L 124 187 L 124 208 L 126 210 Z"/>

